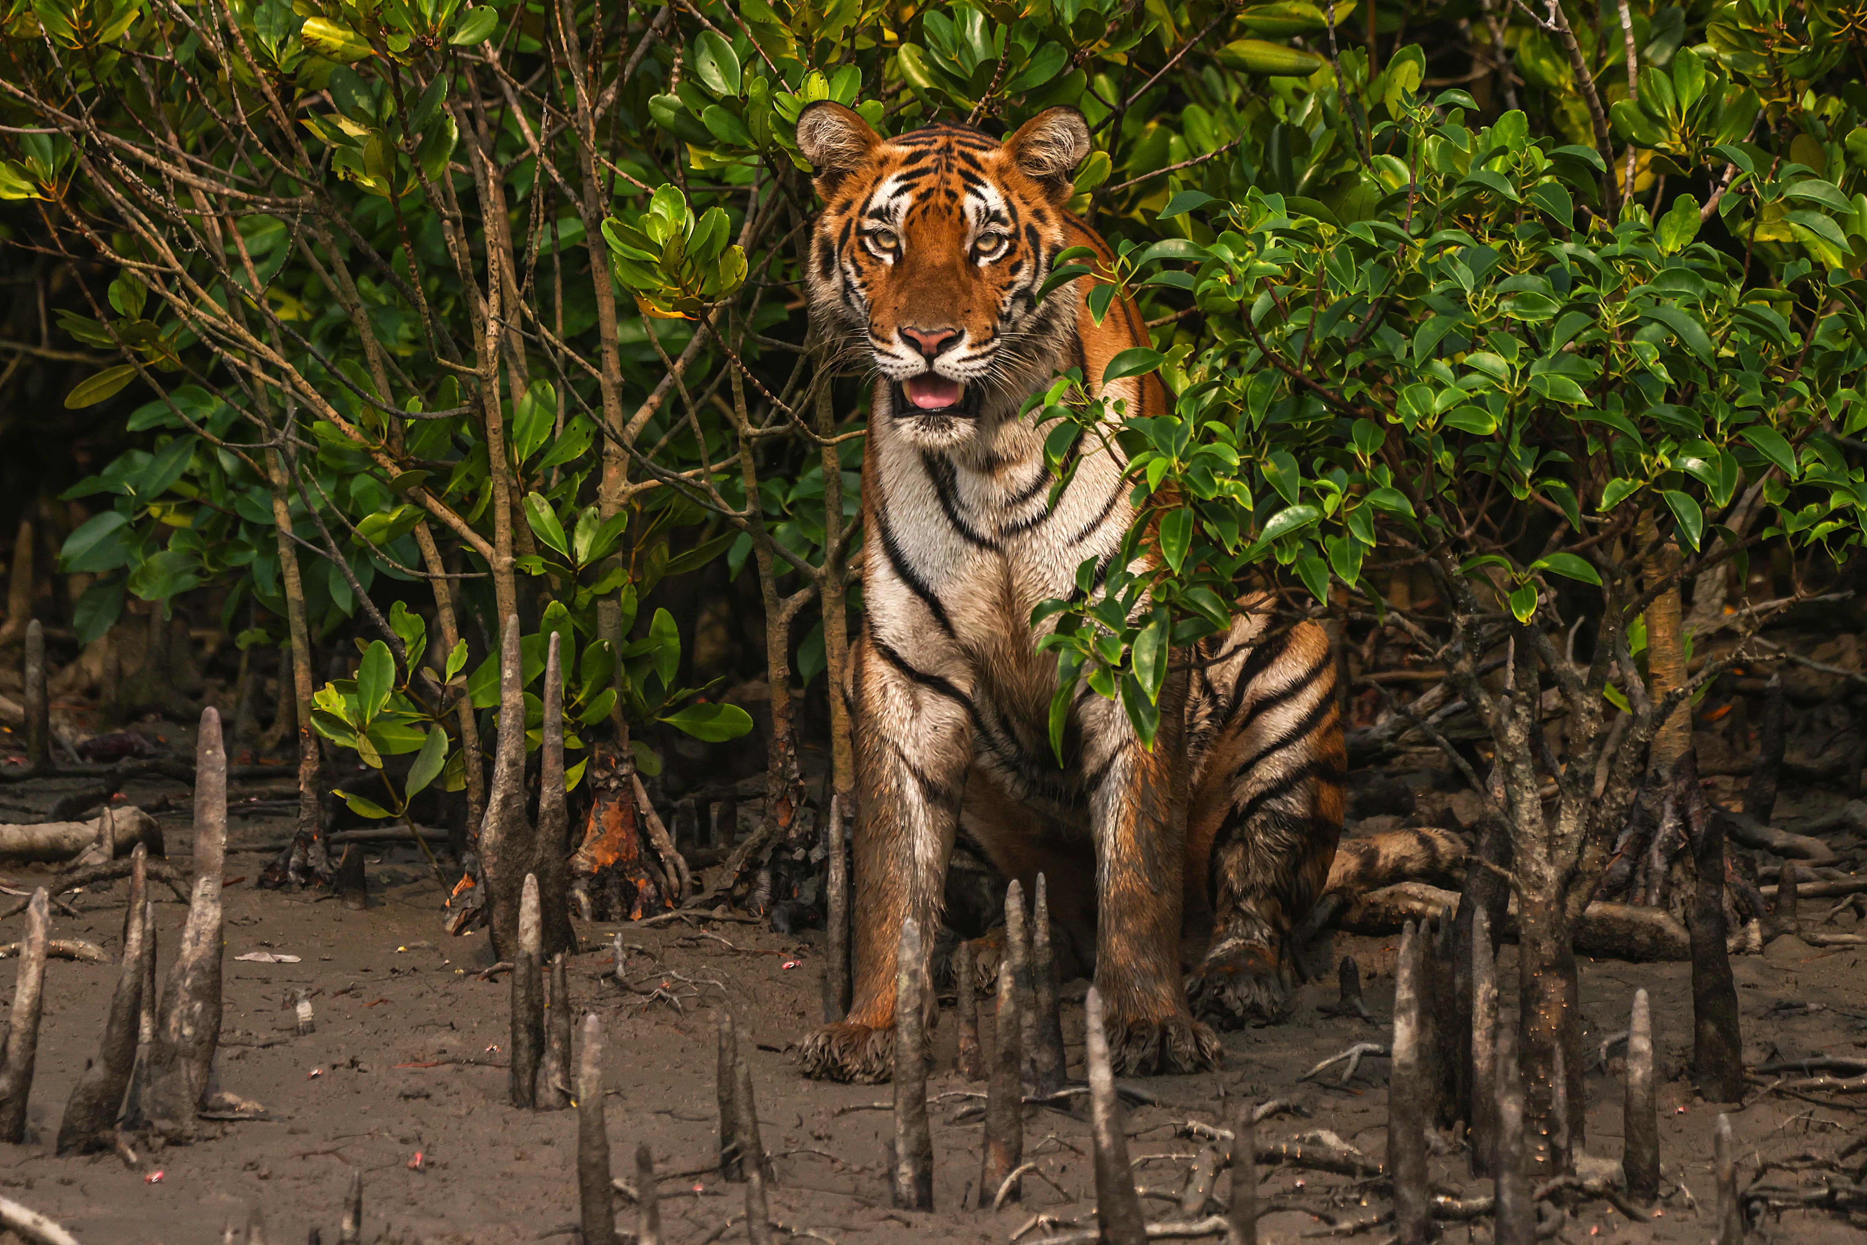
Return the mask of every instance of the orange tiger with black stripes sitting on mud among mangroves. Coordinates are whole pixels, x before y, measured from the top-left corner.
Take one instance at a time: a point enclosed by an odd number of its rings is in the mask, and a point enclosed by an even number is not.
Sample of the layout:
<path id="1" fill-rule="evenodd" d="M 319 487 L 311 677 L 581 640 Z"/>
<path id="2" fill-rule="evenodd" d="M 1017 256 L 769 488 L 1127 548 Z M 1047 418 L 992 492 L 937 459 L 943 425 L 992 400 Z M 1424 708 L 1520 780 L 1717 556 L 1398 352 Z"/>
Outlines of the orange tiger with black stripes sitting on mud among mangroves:
<path id="1" fill-rule="evenodd" d="M 844 694 L 855 743 L 848 1015 L 799 1047 L 805 1075 L 876 1083 L 894 1055 L 904 922 L 935 928 L 956 842 L 1032 892 L 1094 948 L 1120 1075 L 1219 1064 L 1215 1027 L 1279 1019 L 1284 939 L 1309 913 L 1342 829 L 1344 745 L 1324 629 L 1275 625 L 1249 599 L 1230 631 L 1178 657 L 1143 747 L 1122 707 L 1081 687 L 1062 763 L 1049 743 L 1055 661 L 1032 607 L 1100 586 L 1135 521 L 1126 459 L 1081 439 L 1057 476 L 1025 399 L 1077 370 L 1107 418 L 1167 409 L 1158 377 L 1103 381 L 1148 345 L 1094 274 L 1046 297 L 1057 256 L 1109 245 L 1068 211 L 1090 131 L 1047 108 L 1008 138 L 935 123 L 881 138 L 814 103 L 797 147 L 823 200 L 807 254 L 820 332 L 876 371 L 863 457 L 863 601 Z M 1182 971 L 1182 939 L 1204 948 Z"/>

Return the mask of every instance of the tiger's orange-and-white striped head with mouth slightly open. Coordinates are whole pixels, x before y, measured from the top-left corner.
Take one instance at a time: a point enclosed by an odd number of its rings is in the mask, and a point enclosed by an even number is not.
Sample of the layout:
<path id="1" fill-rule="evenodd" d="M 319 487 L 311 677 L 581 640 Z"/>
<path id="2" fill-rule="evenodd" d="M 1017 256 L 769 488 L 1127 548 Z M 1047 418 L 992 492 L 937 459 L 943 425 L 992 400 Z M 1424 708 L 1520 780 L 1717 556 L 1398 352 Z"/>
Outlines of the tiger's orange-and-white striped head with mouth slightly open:
<path id="1" fill-rule="evenodd" d="M 999 142 L 958 125 L 881 138 L 853 110 L 810 105 L 797 146 L 823 196 L 810 252 L 820 323 L 866 342 L 917 441 L 1016 413 L 1057 371 L 1066 299 L 1038 302 L 1066 239 L 1070 175 L 1090 151 L 1074 108 Z"/>

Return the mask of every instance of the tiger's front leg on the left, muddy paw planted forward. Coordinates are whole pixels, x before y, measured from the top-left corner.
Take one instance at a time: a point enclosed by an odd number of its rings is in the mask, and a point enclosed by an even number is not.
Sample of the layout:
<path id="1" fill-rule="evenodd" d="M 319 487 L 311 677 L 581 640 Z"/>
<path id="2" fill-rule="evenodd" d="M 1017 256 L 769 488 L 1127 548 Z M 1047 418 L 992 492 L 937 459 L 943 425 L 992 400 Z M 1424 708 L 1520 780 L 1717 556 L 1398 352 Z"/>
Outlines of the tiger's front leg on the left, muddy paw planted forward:
<path id="1" fill-rule="evenodd" d="M 805 1038 L 820 1081 L 874 1084 L 894 1068 L 894 967 L 902 924 L 928 931 L 952 857 L 973 719 L 965 691 L 866 633 L 853 657 L 855 877 L 849 1015 Z"/>

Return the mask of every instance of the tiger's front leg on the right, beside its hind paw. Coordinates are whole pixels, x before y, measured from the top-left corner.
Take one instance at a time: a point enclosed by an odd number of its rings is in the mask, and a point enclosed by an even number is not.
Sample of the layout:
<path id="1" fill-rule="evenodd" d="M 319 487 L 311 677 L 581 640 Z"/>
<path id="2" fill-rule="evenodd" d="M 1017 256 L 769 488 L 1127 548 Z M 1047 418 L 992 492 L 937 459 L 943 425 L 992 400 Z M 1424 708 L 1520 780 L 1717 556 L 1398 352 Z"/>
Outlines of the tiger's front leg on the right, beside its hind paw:
<path id="1" fill-rule="evenodd" d="M 1096 704 L 1088 726 L 1096 836 L 1096 987 L 1118 1075 L 1219 1066 L 1219 1038 L 1193 1019 L 1180 976 L 1184 825 L 1176 816 L 1180 732 L 1165 711 L 1154 748 L 1120 706 Z"/>

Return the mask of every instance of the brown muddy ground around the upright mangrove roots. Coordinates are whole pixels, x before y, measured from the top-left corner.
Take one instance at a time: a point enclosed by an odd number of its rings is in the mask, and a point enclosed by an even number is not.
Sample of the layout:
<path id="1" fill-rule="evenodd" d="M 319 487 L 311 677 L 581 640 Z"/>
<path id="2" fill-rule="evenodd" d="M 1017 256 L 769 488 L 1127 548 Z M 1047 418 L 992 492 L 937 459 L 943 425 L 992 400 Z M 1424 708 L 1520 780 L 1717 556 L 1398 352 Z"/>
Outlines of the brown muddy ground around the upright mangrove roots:
<path id="1" fill-rule="evenodd" d="M 60 784 L 0 791 L 0 816 L 28 819 L 49 808 Z M 129 799 L 151 804 L 168 795 L 187 806 L 179 784 L 136 784 Z M 254 810 L 258 812 L 258 810 Z M 340 1202 L 353 1174 L 364 1178 L 364 1241 L 506 1241 L 575 1239 L 575 1118 L 569 1112 L 523 1112 L 506 1105 L 502 1047 L 508 1040 L 510 987 L 480 980 L 489 959 L 485 935 L 448 939 L 439 928 L 442 890 L 413 847 L 370 857 L 372 907 L 364 913 L 317 894 L 254 888 L 263 857 L 254 844 L 276 840 L 286 825 L 235 810 L 226 890 L 226 1019 L 220 1081 L 235 1094 L 265 1103 L 265 1122 L 209 1124 L 194 1146 L 146 1155 L 131 1170 L 116 1155 L 60 1159 L 50 1152 L 60 1114 L 84 1060 L 95 1051 L 118 969 L 52 961 L 47 1014 L 32 1094 L 32 1140 L 0 1146 L 0 1196 L 24 1202 L 71 1228 L 86 1245 L 192 1245 L 220 1239 L 222 1226 L 245 1223 L 261 1206 L 276 1241 L 302 1241 L 308 1230 L 336 1239 Z M 170 859 L 187 860 L 187 816 L 162 814 Z M 35 870 L 11 868 L 7 885 L 32 885 Z M 75 896 L 78 918 L 54 915 L 54 937 L 84 937 L 121 948 L 123 888 Z M 162 967 L 174 952 L 183 907 L 157 894 Z M 1820 915 L 1828 902 L 1807 902 Z M 1852 930 L 1841 915 L 1833 930 Z M 19 937 L 19 918 L 0 941 Z M 611 935 L 618 926 L 581 926 L 583 954 L 571 961 L 571 995 L 579 1010 L 603 1015 L 609 1133 L 618 1176 L 633 1180 L 637 1142 L 653 1148 L 663 1170 L 665 1239 L 674 1245 L 745 1239 L 743 1187 L 721 1183 L 709 1170 L 715 1139 L 711 1008 L 726 1006 L 739 1023 L 756 1081 L 764 1140 L 775 1154 L 771 1213 L 793 1234 L 821 1241 L 980 1241 L 1001 1245 L 1034 1215 L 1046 1224 L 1092 1224 L 1092 1170 L 1087 1124 L 1057 1111 L 1034 1111 L 1027 1122 L 1027 1157 L 1038 1174 L 1025 1182 L 1023 1202 L 980 1211 L 980 1122 L 962 1112 L 984 1086 L 954 1073 L 950 1010 L 935 1038 L 934 1213 L 889 1210 L 885 1139 L 887 1086 L 838 1086 L 803 1081 L 793 1066 L 795 1042 L 820 1017 L 820 944 L 780 937 L 758 926 L 698 920 L 661 928 L 624 928 L 639 969 L 655 965 L 678 1006 L 667 999 L 624 995 L 605 980 L 612 969 Z M 1339 937 L 1339 954 L 1359 959 L 1369 978 L 1367 1000 L 1382 1025 L 1393 999 L 1398 939 Z M 248 952 L 299 956 L 297 963 L 241 961 Z M 1815 950 L 1779 943 L 1766 956 L 1734 959 L 1746 1023 L 1746 1062 L 1800 1058 L 1809 1053 L 1863 1055 L 1867 1047 L 1867 974 L 1863 948 Z M 1514 989 L 1514 948 L 1503 954 L 1505 997 Z M 11 997 L 13 965 L 0 965 L 0 997 Z M 640 980 L 640 978 L 639 978 Z M 1087 984 L 1077 982 L 1072 999 Z M 1833 1155 L 1863 1135 L 1856 1107 L 1867 1096 L 1830 1101 L 1759 1094 L 1740 1107 L 1699 1101 L 1684 1079 L 1692 1002 L 1688 965 L 1585 961 L 1583 1012 L 1594 1034 L 1626 1027 L 1635 987 L 1652 993 L 1660 1051 L 1663 1112 L 1663 1215 L 1650 1224 L 1624 1221 L 1606 1202 L 1574 1208 L 1561 1238 L 1628 1241 L 1710 1241 L 1712 1127 L 1720 1109 L 1733 1111 L 1742 1155 L 1740 1182 L 1764 1165 L 1772 1183 L 1820 1180 L 1798 1172 L 1804 1155 Z M 317 1030 L 293 1034 L 297 991 L 312 991 Z M 1311 1118 L 1279 1116 L 1260 1126 L 1260 1140 L 1331 1129 L 1372 1157 L 1385 1146 L 1385 1060 L 1365 1060 L 1348 1086 L 1337 1071 L 1299 1083 L 1316 1060 L 1354 1042 L 1385 1042 L 1385 1030 L 1359 1019 L 1333 1017 L 1318 1004 L 1335 989 L 1313 984 L 1290 1023 L 1225 1036 L 1225 1068 L 1215 1075 L 1161 1077 L 1146 1083 L 1165 1107 L 1137 1107 L 1128 1116 L 1137 1176 L 1150 1191 L 1178 1195 L 1199 1150 L 1180 1135 L 1186 1122 L 1221 1122 L 1223 1103 L 1240 1096 L 1298 1096 Z M 1807 1012 L 1802 1004 L 1822 1004 Z M 1066 1012 L 1072 1073 L 1081 1075 L 1081 1006 Z M 988 1021 L 990 1047 L 990 1021 Z M 1589 1075 L 1593 1155 L 1621 1154 L 1619 1056 Z M 416 1167 L 414 1159 L 420 1155 Z M 1858 1159 L 1856 1159 L 1858 1161 Z M 157 1178 L 155 1172 L 161 1172 Z M 1260 1221 L 1260 1239 L 1294 1241 L 1327 1221 L 1369 1213 L 1363 1189 L 1350 1178 L 1268 1167 L 1260 1196 L 1275 1210 Z M 1462 1154 L 1434 1159 L 1434 1178 L 1447 1193 L 1486 1193 L 1471 1180 Z M 1228 1178 L 1221 1178 L 1219 1193 Z M 1369 1195 L 1372 1210 L 1385 1200 Z M 1152 1213 L 1176 1215 L 1167 1200 Z M 618 1228 L 635 1226 L 635 1210 L 618 1200 Z M 1785 1211 L 1770 1221 L 1768 1239 L 1783 1243 L 1860 1241 L 1867 1228 L 1826 1211 Z M 1040 1239 L 1029 1228 L 1021 1239 Z M 1355 1239 L 1380 1241 L 1387 1228 Z M 9 1241 L 0 1232 L 0 1241 Z M 627 1238 L 624 1238 L 627 1239 Z M 1488 1226 L 1451 1224 L 1447 1239 L 1488 1239 Z"/>

